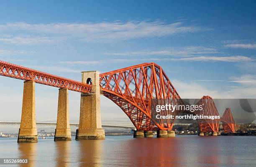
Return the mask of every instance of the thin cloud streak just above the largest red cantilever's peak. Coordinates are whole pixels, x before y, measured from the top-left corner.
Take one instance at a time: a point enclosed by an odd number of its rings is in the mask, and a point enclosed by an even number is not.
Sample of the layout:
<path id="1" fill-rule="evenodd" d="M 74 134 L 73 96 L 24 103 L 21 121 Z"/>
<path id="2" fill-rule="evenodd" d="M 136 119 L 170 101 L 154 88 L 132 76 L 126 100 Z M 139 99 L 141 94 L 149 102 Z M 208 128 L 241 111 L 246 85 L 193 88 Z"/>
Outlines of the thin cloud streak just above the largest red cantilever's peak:
<path id="1" fill-rule="evenodd" d="M 161 50 L 145 50 L 134 52 L 105 52 L 105 55 L 119 55 L 119 56 L 151 56 L 151 55 L 169 55 L 169 56 L 189 56 L 201 54 L 220 53 L 215 48 L 202 46 L 186 46 L 186 47 L 172 47 Z"/>

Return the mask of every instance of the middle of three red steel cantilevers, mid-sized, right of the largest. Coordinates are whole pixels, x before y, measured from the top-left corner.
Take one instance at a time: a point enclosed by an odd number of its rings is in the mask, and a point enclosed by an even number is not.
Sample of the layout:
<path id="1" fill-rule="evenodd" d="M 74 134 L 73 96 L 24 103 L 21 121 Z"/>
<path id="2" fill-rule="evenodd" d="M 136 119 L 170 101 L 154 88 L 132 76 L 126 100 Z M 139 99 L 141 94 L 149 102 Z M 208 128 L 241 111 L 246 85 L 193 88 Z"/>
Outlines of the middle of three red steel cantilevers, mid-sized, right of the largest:
<path id="1" fill-rule="evenodd" d="M 197 115 L 219 116 L 218 110 L 213 102 L 212 97 L 203 96 L 197 105 L 202 105 L 203 110 L 195 111 Z M 219 119 L 197 119 L 200 132 L 218 132 Z"/>

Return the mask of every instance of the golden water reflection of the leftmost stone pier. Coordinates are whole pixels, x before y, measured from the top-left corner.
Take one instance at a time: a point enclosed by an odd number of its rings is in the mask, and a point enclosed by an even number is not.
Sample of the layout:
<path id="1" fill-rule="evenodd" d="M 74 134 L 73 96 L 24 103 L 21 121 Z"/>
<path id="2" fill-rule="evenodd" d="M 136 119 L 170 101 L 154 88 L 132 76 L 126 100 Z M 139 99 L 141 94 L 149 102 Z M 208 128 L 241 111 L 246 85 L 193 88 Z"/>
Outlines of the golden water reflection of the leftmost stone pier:
<path id="1" fill-rule="evenodd" d="M 36 142 L 19 143 L 19 158 L 28 159 L 28 164 L 20 164 L 20 167 L 36 167 Z"/>

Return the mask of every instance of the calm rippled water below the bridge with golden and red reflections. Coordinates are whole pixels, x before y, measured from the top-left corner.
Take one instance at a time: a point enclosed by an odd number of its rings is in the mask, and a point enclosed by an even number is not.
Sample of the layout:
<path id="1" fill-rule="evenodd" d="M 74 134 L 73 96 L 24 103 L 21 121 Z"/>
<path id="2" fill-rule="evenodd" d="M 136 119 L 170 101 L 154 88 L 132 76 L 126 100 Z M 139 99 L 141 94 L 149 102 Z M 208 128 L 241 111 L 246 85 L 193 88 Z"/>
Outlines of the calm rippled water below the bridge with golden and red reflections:
<path id="1" fill-rule="evenodd" d="M 29 165 L 18 165 L 22 167 L 256 167 L 256 137 L 107 136 L 20 144 L 0 138 L 0 158 L 28 158 Z"/>

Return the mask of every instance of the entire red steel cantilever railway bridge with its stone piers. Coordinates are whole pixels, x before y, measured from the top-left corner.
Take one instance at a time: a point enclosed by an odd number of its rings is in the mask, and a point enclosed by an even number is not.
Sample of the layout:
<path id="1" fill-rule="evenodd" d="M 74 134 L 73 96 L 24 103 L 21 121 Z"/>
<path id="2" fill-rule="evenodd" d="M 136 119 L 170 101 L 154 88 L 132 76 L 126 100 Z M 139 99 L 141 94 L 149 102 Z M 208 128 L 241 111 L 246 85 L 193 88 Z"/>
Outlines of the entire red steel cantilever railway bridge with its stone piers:
<path id="1" fill-rule="evenodd" d="M 54 141 L 71 140 L 69 124 L 68 90 L 81 93 L 79 125 L 76 140 L 105 139 L 101 125 L 100 95 L 112 100 L 129 117 L 136 130 L 133 137 L 174 137 L 174 119 L 151 119 L 153 99 L 169 99 L 172 105 L 183 104 L 169 78 L 154 62 L 133 65 L 100 74 L 98 71 L 83 71 L 82 82 L 59 77 L 46 72 L 0 61 L 0 75 L 25 80 L 18 142 L 37 142 L 35 83 L 59 87 L 57 122 Z M 204 115 L 219 115 L 210 96 L 203 96 L 197 103 L 203 106 Z M 198 114 L 195 111 L 193 114 Z M 182 111 L 174 112 L 180 115 Z M 224 132 L 235 132 L 235 121 L 230 108 L 226 108 L 220 119 L 198 119 L 199 135 L 219 132 L 219 123 Z"/>

